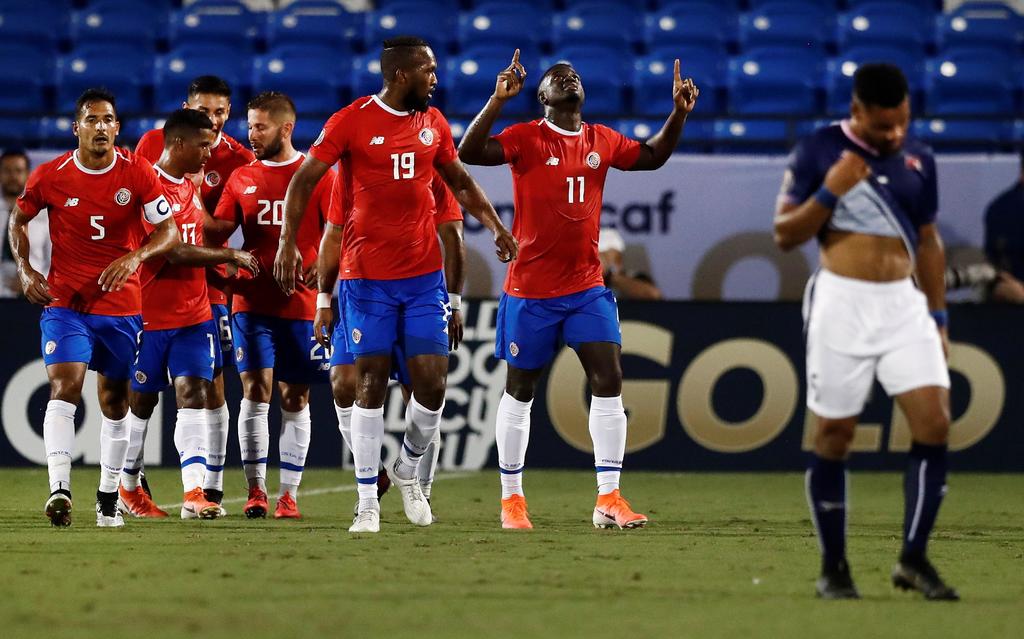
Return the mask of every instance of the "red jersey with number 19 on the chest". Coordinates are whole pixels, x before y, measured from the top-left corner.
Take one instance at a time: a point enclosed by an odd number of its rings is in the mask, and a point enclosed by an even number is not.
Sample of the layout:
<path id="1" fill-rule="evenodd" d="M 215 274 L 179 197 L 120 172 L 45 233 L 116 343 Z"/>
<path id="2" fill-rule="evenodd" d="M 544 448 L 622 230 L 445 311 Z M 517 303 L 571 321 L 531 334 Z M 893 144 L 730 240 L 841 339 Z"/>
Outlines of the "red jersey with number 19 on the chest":
<path id="1" fill-rule="evenodd" d="M 339 276 L 400 280 L 440 270 L 435 167 L 458 159 L 449 123 L 431 106 L 399 112 L 376 95 L 331 116 L 309 155 L 341 161 L 339 179 L 351 194 Z"/>

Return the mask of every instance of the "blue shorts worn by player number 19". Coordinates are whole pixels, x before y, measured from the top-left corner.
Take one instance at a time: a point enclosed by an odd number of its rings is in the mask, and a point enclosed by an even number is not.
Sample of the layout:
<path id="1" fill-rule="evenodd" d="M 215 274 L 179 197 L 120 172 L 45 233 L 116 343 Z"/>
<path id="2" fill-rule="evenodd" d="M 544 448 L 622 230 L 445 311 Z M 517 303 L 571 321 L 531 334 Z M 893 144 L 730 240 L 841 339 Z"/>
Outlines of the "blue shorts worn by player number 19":
<path id="1" fill-rule="evenodd" d="M 354 357 L 390 354 L 397 343 L 407 357 L 447 356 L 452 306 L 441 271 L 404 280 L 343 280 L 339 297 L 339 329 Z"/>

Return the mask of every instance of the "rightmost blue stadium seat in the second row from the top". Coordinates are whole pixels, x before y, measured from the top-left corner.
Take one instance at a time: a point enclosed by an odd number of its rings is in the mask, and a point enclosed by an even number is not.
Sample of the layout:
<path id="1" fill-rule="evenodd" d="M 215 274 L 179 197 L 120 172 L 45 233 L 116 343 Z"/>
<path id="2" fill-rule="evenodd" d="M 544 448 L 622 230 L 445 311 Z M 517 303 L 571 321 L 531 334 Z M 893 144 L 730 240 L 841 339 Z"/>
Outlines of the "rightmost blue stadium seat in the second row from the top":
<path id="1" fill-rule="evenodd" d="M 951 48 L 928 61 L 928 113 L 1009 114 L 1017 106 L 1020 67 L 988 48 Z"/>

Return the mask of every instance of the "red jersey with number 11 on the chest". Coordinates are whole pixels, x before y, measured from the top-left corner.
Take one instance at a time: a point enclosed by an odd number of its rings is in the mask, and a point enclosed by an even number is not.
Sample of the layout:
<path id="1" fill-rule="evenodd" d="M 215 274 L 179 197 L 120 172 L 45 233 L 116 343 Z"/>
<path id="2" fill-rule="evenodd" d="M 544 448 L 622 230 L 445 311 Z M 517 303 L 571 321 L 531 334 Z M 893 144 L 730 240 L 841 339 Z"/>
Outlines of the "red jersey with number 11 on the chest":
<path id="1" fill-rule="evenodd" d="M 566 131 L 547 120 L 515 124 L 496 136 L 512 168 L 519 256 L 505 292 L 548 298 L 603 286 L 597 238 L 608 169 L 628 169 L 640 142 L 599 124 Z"/>

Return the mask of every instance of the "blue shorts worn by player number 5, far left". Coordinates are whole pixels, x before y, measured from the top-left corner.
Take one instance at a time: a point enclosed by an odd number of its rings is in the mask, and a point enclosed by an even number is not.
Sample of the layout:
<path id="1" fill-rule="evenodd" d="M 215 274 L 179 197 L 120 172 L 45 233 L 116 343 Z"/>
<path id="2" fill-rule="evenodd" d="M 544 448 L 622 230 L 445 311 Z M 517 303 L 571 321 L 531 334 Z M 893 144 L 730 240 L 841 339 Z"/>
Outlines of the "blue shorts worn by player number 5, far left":
<path id="1" fill-rule="evenodd" d="M 50 307 L 43 309 L 39 328 L 46 366 L 82 361 L 111 380 L 131 377 L 142 315 L 94 315 Z"/>

